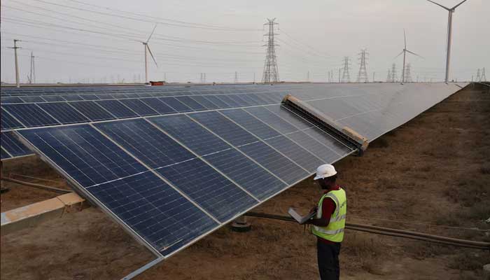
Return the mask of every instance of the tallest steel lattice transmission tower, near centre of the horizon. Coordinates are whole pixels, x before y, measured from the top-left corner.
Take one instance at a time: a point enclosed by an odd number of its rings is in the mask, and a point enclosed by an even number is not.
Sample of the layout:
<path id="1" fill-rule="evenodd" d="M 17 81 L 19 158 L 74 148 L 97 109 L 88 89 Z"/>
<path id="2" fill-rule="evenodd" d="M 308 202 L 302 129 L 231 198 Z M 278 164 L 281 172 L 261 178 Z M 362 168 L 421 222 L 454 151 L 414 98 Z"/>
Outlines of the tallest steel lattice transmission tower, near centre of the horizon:
<path id="1" fill-rule="evenodd" d="M 267 18 L 267 23 L 264 25 L 269 26 L 269 32 L 264 34 L 267 36 L 267 44 L 263 45 L 267 47 L 267 52 L 265 53 L 264 62 L 264 73 L 262 75 L 262 83 L 276 83 L 279 82 L 279 70 L 277 69 L 277 57 L 276 57 L 276 43 L 274 42 L 274 25 L 279 25 L 279 23 L 274 22 L 276 18 L 272 20 Z"/>

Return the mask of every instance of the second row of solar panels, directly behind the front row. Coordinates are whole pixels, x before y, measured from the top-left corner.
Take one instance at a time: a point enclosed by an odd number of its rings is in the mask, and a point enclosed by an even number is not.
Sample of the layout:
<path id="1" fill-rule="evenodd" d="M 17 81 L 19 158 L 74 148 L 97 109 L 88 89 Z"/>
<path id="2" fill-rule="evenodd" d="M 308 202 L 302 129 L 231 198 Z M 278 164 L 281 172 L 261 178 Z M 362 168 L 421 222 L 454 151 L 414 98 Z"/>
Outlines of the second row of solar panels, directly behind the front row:
<path id="1" fill-rule="evenodd" d="M 3 104 L 1 106 L 1 130 L 278 104 L 283 95 L 280 93 L 252 93 Z"/>

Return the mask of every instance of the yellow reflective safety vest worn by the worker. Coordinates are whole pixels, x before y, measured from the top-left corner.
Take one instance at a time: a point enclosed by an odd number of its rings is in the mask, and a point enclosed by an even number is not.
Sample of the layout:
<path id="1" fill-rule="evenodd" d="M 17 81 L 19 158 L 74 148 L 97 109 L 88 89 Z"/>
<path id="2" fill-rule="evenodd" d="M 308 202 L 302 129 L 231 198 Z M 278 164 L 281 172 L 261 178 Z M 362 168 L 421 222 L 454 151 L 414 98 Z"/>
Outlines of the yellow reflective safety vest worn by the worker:
<path id="1" fill-rule="evenodd" d="M 311 233 L 317 237 L 321 237 L 332 242 L 342 242 L 344 239 L 345 228 L 345 215 L 347 213 L 347 197 L 345 190 L 340 188 L 339 190 L 330 190 L 325 193 L 318 202 L 318 211 L 316 211 L 316 218 L 321 218 L 321 207 L 325 197 L 328 197 L 335 202 L 335 211 L 330 217 L 330 222 L 326 227 L 318 227 L 316 225 L 311 228 Z"/>

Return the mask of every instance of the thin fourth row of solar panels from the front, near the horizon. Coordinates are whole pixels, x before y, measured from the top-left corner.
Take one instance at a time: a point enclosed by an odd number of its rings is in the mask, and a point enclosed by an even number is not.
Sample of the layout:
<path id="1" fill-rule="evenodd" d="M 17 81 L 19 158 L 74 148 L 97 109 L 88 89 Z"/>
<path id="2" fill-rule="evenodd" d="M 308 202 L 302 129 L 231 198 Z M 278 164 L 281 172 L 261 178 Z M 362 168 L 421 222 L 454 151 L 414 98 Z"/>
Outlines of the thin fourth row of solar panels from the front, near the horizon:
<path id="1" fill-rule="evenodd" d="M 283 87 L 283 86 L 282 86 Z M 271 86 L 253 86 L 245 85 L 239 87 L 226 87 L 225 85 L 218 85 L 214 87 L 104 87 L 98 90 L 93 89 L 78 89 L 76 87 L 62 87 L 56 90 L 45 90 L 42 88 L 32 88 L 31 90 L 5 90 L 1 88 L 2 97 L 16 97 L 16 96 L 31 96 L 31 95 L 60 95 L 60 94 L 117 94 L 117 93 L 159 93 L 167 96 L 169 92 L 193 92 L 192 94 L 223 94 L 223 93 L 235 93 L 239 91 L 260 92 L 274 90 L 276 87 Z M 207 93 L 200 93 L 207 92 Z"/>

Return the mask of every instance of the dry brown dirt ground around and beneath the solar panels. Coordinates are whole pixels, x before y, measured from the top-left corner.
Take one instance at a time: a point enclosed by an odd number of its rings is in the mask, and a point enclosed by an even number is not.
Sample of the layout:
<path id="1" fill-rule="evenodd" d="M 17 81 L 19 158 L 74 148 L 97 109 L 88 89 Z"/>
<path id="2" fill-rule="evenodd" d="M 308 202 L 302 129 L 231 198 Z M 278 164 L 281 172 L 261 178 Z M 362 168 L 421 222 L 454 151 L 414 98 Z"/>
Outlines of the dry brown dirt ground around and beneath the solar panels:
<path id="1" fill-rule="evenodd" d="M 490 241 L 490 94 L 454 94 L 374 141 L 363 157 L 336 163 L 348 221 Z M 62 181 L 39 160 L 4 172 Z M 46 182 L 43 182 L 46 183 Z M 47 183 L 46 183 L 47 184 Z M 63 183 L 57 183 L 61 186 Z M 56 194 L 11 183 L 1 211 Z M 320 191 L 308 179 L 256 211 L 307 211 Z M 316 241 L 302 226 L 248 218 L 225 227 L 137 279 L 318 279 Z M 480 230 L 475 230 L 480 229 Z M 486 230 L 486 231 L 484 231 Z M 154 257 L 95 208 L 1 237 L 1 279 L 120 279 Z M 482 279 L 488 251 L 346 230 L 342 279 Z"/>

